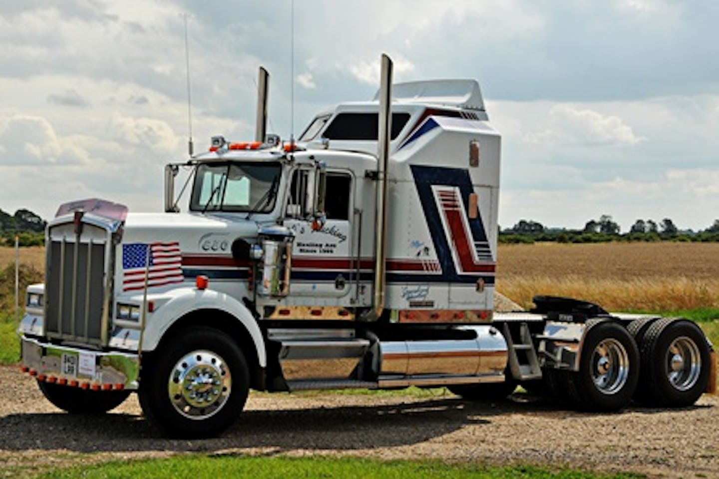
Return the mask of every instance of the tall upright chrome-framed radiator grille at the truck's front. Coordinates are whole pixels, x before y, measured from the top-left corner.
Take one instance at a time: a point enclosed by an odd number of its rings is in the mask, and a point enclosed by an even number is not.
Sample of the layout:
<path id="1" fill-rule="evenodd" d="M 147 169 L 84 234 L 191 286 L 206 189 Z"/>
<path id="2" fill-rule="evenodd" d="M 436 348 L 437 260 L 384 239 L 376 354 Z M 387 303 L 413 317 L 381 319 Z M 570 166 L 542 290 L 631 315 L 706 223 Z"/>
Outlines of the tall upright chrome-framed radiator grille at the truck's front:
<path id="1" fill-rule="evenodd" d="M 104 343 L 108 237 L 106 229 L 91 224 L 83 224 L 82 234 L 75 234 L 73 224 L 50 229 L 45 287 L 48 337 Z"/>

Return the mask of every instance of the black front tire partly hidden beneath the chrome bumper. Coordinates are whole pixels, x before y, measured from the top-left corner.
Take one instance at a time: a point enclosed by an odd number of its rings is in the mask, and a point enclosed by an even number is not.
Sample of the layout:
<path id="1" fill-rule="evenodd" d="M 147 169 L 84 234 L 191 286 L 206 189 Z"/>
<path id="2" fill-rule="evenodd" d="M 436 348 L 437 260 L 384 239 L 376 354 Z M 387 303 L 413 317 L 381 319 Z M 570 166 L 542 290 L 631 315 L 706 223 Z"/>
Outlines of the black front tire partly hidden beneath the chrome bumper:
<path id="1" fill-rule="evenodd" d="M 88 391 L 37 381 L 47 401 L 70 414 L 104 414 L 127 399 L 130 391 Z"/>

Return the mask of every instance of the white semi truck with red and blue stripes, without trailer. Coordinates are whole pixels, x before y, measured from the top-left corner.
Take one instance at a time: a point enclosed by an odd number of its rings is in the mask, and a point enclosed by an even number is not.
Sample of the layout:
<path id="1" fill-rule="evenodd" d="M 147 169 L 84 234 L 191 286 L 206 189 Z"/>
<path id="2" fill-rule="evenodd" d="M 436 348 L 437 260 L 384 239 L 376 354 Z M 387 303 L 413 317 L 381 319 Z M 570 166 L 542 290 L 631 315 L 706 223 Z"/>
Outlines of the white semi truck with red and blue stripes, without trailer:
<path id="1" fill-rule="evenodd" d="M 391 65 L 375 99 L 285 143 L 265 134 L 261 69 L 255 142 L 214 137 L 167 165 L 165 212 L 60 206 L 19 327 L 42 393 L 76 414 L 137 393 L 169 434 L 207 437 L 250 388 L 475 399 L 521 383 L 595 411 L 713 389 L 713 350 L 691 321 L 546 296 L 493 311 L 500 135 L 476 81 L 392 85 Z"/>

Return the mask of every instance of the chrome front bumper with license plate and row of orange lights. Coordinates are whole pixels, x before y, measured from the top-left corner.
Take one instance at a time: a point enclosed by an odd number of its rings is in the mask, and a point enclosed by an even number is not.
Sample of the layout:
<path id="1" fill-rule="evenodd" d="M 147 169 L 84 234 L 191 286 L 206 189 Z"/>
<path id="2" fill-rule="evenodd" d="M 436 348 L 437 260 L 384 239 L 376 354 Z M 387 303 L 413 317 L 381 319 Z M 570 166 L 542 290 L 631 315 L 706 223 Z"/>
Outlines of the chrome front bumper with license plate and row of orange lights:
<path id="1" fill-rule="evenodd" d="M 22 336 L 22 370 L 37 380 L 93 391 L 137 389 L 139 356 L 52 345 Z"/>

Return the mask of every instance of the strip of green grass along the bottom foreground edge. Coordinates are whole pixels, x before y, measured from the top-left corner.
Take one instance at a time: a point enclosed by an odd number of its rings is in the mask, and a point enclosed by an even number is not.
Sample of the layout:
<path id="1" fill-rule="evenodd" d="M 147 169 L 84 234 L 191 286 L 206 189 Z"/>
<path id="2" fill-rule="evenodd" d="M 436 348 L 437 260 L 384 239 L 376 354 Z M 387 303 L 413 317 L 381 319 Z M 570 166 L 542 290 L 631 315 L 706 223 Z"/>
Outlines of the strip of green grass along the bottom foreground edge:
<path id="1" fill-rule="evenodd" d="M 550 471 L 534 466 L 447 465 L 440 461 L 380 461 L 356 457 L 250 457 L 180 455 L 168 459 L 106 462 L 52 470 L 38 478 L 486 478 L 486 479 L 638 479 L 634 473 Z"/>

